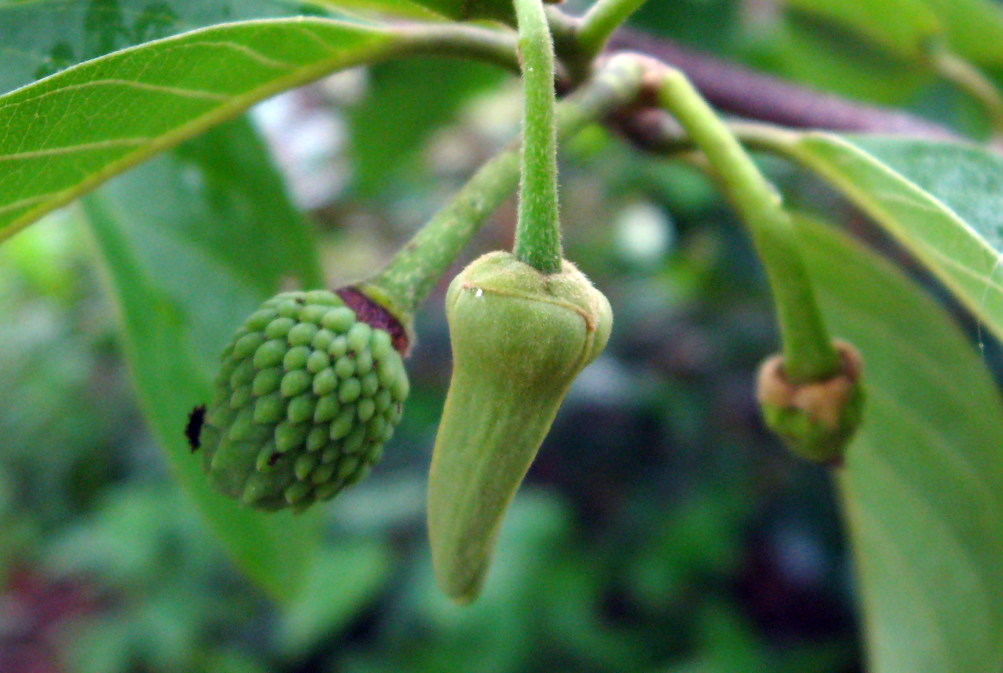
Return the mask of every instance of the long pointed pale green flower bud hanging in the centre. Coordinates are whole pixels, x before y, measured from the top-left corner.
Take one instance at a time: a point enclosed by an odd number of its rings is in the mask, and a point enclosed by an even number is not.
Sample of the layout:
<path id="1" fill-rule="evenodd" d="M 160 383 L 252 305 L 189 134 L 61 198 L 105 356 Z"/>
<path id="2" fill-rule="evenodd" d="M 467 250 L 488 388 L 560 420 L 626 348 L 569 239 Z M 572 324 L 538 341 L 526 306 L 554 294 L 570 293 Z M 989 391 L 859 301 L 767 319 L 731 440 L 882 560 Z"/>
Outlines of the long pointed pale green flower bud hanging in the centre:
<path id="1" fill-rule="evenodd" d="M 439 586 L 466 602 L 568 388 L 605 347 L 613 313 L 570 262 L 546 276 L 496 252 L 453 279 L 446 317 L 452 380 L 428 475 L 428 534 Z"/>

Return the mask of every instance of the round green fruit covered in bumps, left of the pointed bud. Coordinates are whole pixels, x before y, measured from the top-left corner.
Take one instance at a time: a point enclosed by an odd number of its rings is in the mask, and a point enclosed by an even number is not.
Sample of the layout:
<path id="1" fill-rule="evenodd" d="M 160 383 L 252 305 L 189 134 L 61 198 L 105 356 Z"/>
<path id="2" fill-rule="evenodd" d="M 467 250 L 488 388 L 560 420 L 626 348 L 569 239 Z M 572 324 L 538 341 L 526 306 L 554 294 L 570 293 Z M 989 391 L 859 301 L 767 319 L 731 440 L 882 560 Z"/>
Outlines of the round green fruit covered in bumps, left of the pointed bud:
<path id="1" fill-rule="evenodd" d="M 390 335 L 323 290 L 265 302 L 222 360 L 203 466 L 217 488 L 260 510 L 303 510 L 361 479 L 408 392 Z"/>

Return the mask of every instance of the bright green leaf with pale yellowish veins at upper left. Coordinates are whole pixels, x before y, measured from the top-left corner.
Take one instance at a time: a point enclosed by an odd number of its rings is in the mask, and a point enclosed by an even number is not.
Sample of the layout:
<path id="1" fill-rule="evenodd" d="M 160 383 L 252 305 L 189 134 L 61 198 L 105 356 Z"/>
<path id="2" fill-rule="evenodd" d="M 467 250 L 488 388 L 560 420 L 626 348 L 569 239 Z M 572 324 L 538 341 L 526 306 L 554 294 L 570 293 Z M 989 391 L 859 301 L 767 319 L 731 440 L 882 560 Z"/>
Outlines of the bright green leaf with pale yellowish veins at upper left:
<path id="1" fill-rule="evenodd" d="M 0 96 L 0 240 L 262 98 L 399 52 L 408 39 L 327 19 L 228 24 L 117 51 Z"/>

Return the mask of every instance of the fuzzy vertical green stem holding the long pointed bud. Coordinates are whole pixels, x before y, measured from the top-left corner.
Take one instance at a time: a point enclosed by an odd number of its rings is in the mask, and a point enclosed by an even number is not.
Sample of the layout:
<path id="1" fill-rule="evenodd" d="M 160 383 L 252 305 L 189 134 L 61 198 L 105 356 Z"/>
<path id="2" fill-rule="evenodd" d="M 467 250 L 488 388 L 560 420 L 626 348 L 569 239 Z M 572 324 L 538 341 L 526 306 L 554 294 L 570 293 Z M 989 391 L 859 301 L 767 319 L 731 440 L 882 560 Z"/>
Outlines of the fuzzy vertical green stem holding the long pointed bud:
<path id="1" fill-rule="evenodd" d="M 513 254 L 542 274 L 561 271 L 554 40 L 541 0 L 516 0 L 523 62 L 522 178 Z"/>

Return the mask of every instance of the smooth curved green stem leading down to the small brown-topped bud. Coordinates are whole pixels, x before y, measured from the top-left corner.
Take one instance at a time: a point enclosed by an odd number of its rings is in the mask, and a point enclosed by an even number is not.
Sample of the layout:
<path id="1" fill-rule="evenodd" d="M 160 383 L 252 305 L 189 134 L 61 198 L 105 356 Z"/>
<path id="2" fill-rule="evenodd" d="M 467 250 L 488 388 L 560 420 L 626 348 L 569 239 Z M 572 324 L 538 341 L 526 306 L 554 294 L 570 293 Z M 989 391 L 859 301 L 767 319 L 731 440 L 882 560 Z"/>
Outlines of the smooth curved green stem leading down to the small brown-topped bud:
<path id="1" fill-rule="evenodd" d="M 779 195 L 683 73 L 666 70 L 658 97 L 703 150 L 751 234 L 776 304 L 785 374 L 794 382 L 830 376 L 839 359 Z"/>

